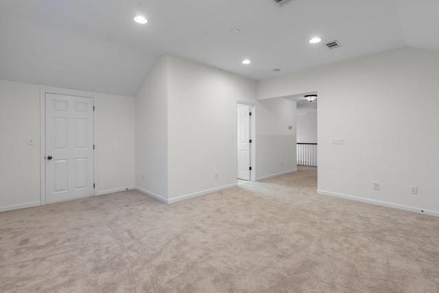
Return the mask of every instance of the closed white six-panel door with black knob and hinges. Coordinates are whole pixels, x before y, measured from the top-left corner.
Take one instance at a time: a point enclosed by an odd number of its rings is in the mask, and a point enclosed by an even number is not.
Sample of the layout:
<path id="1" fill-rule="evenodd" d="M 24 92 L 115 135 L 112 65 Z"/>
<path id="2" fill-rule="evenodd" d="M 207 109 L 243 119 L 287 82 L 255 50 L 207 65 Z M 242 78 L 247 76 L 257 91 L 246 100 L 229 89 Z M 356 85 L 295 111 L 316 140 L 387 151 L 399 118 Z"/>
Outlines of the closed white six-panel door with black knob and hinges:
<path id="1" fill-rule="evenodd" d="M 93 196 L 93 98 L 45 94 L 46 202 Z"/>

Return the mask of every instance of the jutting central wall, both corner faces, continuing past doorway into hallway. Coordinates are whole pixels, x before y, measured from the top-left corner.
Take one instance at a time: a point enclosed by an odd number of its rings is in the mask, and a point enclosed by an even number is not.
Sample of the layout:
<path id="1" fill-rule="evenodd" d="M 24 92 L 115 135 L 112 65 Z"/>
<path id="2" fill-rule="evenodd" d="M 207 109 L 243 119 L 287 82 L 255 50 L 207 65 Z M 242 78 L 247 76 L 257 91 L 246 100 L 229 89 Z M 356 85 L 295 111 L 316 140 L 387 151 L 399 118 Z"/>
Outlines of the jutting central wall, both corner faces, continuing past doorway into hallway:
<path id="1" fill-rule="evenodd" d="M 235 186 L 238 100 L 256 108 L 257 174 L 296 171 L 295 103 L 255 96 L 253 80 L 163 56 L 136 97 L 137 188 L 175 202 Z"/>

